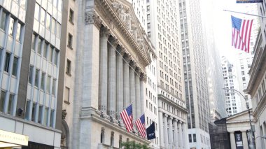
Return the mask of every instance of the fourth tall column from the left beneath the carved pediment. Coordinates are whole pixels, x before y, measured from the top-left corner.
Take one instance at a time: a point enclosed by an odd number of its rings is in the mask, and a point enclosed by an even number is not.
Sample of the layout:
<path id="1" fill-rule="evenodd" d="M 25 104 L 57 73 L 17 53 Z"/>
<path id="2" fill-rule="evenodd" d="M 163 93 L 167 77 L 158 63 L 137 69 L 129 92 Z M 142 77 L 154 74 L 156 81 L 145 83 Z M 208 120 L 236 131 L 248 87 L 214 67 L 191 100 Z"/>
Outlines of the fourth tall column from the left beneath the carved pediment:
<path id="1" fill-rule="evenodd" d="M 123 87 L 124 87 L 124 106 L 130 105 L 130 56 L 127 54 L 124 54 L 124 60 L 123 60 Z"/>

